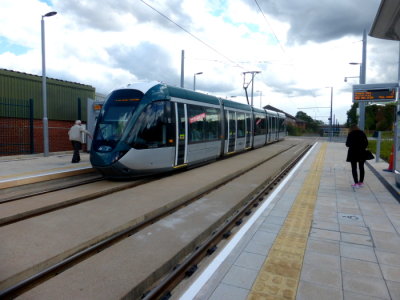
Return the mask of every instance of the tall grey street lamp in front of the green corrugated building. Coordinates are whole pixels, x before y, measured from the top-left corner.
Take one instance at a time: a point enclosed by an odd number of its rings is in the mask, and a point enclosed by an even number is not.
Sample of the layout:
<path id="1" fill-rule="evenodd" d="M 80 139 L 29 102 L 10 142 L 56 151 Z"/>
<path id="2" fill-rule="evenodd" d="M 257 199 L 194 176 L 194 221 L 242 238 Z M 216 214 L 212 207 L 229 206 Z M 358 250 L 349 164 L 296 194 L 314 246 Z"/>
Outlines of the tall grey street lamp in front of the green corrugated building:
<path id="1" fill-rule="evenodd" d="M 49 124 L 47 119 L 46 59 L 44 47 L 44 18 L 52 17 L 57 12 L 51 11 L 42 16 L 42 95 L 43 95 L 43 155 L 49 156 Z"/>

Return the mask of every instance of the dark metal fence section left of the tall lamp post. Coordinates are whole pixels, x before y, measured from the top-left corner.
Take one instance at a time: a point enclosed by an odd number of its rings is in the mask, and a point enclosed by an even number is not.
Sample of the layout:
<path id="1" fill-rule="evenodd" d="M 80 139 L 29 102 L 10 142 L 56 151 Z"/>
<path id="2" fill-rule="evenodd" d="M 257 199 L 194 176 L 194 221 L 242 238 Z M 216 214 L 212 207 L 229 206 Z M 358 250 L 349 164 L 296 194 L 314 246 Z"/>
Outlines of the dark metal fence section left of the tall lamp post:
<path id="1" fill-rule="evenodd" d="M 0 156 L 34 153 L 33 100 L 0 98 Z"/>

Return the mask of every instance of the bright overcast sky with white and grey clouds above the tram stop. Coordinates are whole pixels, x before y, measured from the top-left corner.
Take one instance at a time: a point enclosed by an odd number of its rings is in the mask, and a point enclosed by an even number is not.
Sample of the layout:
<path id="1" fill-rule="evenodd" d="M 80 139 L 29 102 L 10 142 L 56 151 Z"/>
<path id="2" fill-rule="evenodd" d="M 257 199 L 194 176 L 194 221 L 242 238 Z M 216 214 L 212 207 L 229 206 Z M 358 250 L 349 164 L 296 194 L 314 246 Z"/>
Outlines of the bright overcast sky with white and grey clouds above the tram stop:
<path id="1" fill-rule="evenodd" d="M 254 104 L 328 123 L 330 89 L 340 123 L 357 84 L 362 32 L 380 0 L 0 0 L 0 68 L 41 75 L 41 16 L 47 75 L 99 93 L 136 81 L 244 98 L 243 72 L 255 76 Z M 399 43 L 368 36 L 367 83 L 396 82 Z M 246 77 L 246 83 L 250 77 Z M 260 92 L 261 91 L 261 92 Z M 249 87 L 250 92 L 250 87 Z"/>

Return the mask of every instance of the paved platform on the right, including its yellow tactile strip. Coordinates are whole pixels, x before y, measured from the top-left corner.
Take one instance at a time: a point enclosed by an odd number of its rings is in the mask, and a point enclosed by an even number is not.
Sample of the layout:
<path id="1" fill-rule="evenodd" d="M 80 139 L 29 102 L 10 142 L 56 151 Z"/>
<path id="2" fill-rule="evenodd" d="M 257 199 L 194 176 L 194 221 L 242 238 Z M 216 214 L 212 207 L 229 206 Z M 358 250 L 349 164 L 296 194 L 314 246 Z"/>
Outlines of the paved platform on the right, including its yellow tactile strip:
<path id="1" fill-rule="evenodd" d="M 399 202 L 368 166 L 352 188 L 346 154 L 318 143 L 179 298 L 400 299 Z M 388 164 L 369 163 L 398 193 Z"/>

